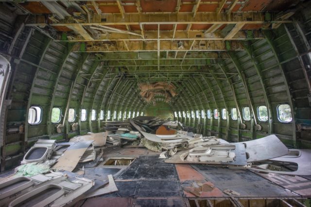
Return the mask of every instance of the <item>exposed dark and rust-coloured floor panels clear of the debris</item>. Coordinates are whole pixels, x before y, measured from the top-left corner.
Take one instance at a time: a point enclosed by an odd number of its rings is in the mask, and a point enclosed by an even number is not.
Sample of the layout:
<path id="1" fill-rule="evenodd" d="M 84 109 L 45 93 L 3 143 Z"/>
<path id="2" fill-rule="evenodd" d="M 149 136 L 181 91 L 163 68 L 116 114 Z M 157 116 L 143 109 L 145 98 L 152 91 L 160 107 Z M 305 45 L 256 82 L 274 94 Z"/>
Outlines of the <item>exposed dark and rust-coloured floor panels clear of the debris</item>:
<path id="1" fill-rule="evenodd" d="M 86 168 L 85 177 L 105 180 L 113 174 L 119 191 L 88 198 L 75 207 L 187 207 L 189 199 L 224 198 L 231 190 L 236 198 L 301 198 L 309 195 L 311 180 L 295 176 L 256 174 L 199 164 L 170 164 L 159 153 L 144 148 L 109 148 L 104 161 Z M 111 158 L 135 158 L 130 165 L 107 166 Z M 302 184 L 302 185 L 301 185 Z"/>

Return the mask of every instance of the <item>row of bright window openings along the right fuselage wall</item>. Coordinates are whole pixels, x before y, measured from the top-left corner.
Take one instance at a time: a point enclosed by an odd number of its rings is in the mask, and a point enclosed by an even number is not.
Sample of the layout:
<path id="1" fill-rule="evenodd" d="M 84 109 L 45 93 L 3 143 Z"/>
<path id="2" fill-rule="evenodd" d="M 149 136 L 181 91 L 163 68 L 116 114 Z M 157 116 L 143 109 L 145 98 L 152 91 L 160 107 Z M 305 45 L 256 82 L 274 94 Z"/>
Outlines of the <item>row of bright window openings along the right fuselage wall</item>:
<path id="1" fill-rule="evenodd" d="M 242 115 L 243 115 L 243 119 L 245 121 L 250 121 L 251 120 L 251 111 L 249 109 L 249 107 L 243 107 L 242 109 Z M 227 111 L 226 109 L 222 109 L 221 110 L 221 114 L 222 114 L 222 118 L 224 120 L 227 119 Z M 268 121 L 268 110 L 266 106 L 259 106 L 257 107 L 257 114 L 258 114 L 258 119 L 259 121 L 262 122 L 266 122 Z M 210 119 L 211 118 L 211 111 L 208 109 L 206 114 L 204 112 L 204 110 L 201 110 L 201 118 L 205 118 L 205 115 L 207 115 L 207 118 Z M 214 118 L 218 119 L 218 110 L 214 109 Z M 189 111 L 185 112 L 185 111 L 174 111 L 174 116 L 175 117 L 187 117 L 187 118 L 194 118 L 194 111 L 191 111 L 191 114 Z M 200 117 L 200 112 L 199 110 L 195 111 L 195 117 L 199 118 Z M 291 107 L 288 104 L 280 104 L 277 106 L 277 118 L 280 122 L 284 122 L 284 123 L 289 123 L 292 121 L 292 112 L 291 112 Z M 232 108 L 231 109 L 231 119 L 232 120 L 238 120 L 238 113 L 237 113 L 237 109 L 236 108 Z"/>

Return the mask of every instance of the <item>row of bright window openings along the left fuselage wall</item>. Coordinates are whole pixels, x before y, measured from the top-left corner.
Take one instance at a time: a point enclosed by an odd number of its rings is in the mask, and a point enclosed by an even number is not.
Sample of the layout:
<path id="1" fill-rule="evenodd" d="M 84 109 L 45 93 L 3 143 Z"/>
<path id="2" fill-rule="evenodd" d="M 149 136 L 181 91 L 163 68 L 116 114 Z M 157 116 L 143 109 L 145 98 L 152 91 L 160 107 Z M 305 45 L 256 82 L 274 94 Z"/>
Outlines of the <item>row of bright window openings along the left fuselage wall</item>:
<path id="1" fill-rule="evenodd" d="M 111 119 L 111 115 L 113 115 L 113 119 L 117 118 L 117 111 L 114 111 L 113 114 L 111 114 L 111 111 L 108 110 L 107 112 L 107 119 L 110 120 Z M 135 116 L 139 116 L 139 111 L 135 112 L 133 111 L 124 111 L 122 113 L 122 111 L 119 112 L 119 119 L 122 118 L 126 119 L 126 117 L 130 118 L 130 117 L 135 117 Z M 143 112 L 140 113 L 141 116 L 144 115 Z M 53 124 L 57 124 L 61 121 L 61 117 L 62 117 L 62 111 L 60 108 L 55 107 L 52 109 L 52 118 L 51 118 L 51 122 Z M 81 110 L 81 121 L 84 122 L 86 121 L 86 117 L 87 117 L 87 111 L 86 109 L 82 109 Z M 76 111 L 75 109 L 69 109 L 68 111 L 68 121 L 69 122 L 74 122 L 76 118 Z M 42 119 L 42 108 L 39 106 L 32 106 L 29 108 L 29 112 L 28 112 L 28 123 L 29 124 L 39 124 L 41 122 Z M 104 120 L 104 110 L 101 110 L 100 112 L 100 116 L 99 116 L 100 120 Z M 96 120 L 96 110 L 92 110 L 92 114 L 91 114 L 91 121 L 95 121 Z"/>

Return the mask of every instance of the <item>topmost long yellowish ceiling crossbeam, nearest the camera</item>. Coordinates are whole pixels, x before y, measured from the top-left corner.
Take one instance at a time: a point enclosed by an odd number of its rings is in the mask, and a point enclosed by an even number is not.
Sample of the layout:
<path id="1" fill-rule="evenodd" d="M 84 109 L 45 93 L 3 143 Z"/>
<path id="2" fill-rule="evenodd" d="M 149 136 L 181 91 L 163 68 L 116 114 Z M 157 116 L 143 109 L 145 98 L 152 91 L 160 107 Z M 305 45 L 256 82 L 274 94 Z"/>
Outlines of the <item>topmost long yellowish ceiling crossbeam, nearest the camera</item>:
<path id="1" fill-rule="evenodd" d="M 265 20 L 265 12 L 238 12 L 231 13 L 228 17 L 226 14 L 217 14 L 216 12 L 210 13 L 197 13 L 195 17 L 189 13 L 178 14 L 131 14 L 125 13 L 124 18 L 121 14 L 102 14 L 93 15 L 90 22 L 76 23 L 74 20 L 67 18 L 59 22 L 47 23 L 49 16 L 46 15 L 33 15 L 30 16 L 26 22 L 26 26 L 70 26 L 70 25 L 83 25 L 83 26 L 97 26 L 97 25 L 139 25 L 139 24 L 236 24 L 243 22 L 245 24 L 263 24 L 263 23 L 291 23 L 290 20 L 278 20 L 274 18 L 273 13 L 271 21 Z"/>

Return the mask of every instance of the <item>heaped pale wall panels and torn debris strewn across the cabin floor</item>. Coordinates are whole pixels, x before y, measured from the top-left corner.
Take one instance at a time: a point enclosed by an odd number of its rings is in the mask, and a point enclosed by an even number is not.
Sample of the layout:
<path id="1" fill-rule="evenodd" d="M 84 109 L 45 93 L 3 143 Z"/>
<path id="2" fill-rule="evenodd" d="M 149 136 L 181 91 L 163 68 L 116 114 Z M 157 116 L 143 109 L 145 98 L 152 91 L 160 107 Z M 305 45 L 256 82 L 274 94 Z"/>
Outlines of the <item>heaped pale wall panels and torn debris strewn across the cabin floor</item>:
<path id="1" fill-rule="evenodd" d="M 33 206 L 33 200 L 39 196 L 36 205 L 61 207 L 118 191 L 112 175 L 94 179 L 94 176 L 88 177 L 87 172 L 93 169 L 95 175 L 95 171 L 100 171 L 101 165 L 98 163 L 103 161 L 105 150 L 125 143 L 161 152 L 159 158 L 167 163 L 196 163 L 265 173 L 311 175 L 311 150 L 289 150 L 276 135 L 228 143 L 217 137 L 189 132 L 179 122 L 153 116 L 105 122 L 104 130 L 73 137 L 67 143 L 38 140 L 25 154 L 22 165 L 16 168 L 15 178 L 0 184 L 0 203 L 4 206 Z M 135 158 L 122 159 L 131 163 Z M 126 165 L 115 158 L 109 158 L 104 164 L 108 161 L 114 165 Z M 214 186 L 207 183 L 195 183 L 184 188 L 184 191 L 197 197 L 213 190 Z M 224 193 L 238 195 L 232 190 L 225 190 Z"/>

